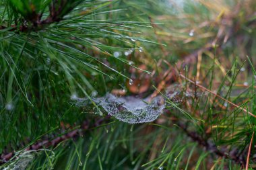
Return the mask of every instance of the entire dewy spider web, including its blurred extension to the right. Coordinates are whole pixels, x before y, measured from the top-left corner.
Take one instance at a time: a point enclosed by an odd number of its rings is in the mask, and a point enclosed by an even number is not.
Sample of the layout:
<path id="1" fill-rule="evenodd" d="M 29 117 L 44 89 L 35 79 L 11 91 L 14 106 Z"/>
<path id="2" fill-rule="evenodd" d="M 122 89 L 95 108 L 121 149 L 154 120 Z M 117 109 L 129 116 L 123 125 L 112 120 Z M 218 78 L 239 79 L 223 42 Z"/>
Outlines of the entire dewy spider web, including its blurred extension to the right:
<path id="1" fill-rule="evenodd" d="M 191 98 L 193 95 L 205 95 L 201 91 L 195 93 L 194 90 L 184 89 L 181 85 L 172 85 L 166 88 L 166 98 L 171 100 L 175 105 L 184 102 L 184 99 Z M 168 105 L 164 100 L 165 97 L 158 95 L 150 100 L 150 97 L 139 98 L 134 96 L 117 97 L 111 93 L 106 93 L 104 97 L 91 97 L 92 101 L 102 108 L 110 116 L 114 116 L 122 122 L 129 124 L 138 124 L 152 122 L 158 118 Z M 90 99 L 79 98 L 72 95 L 73 105 L 84 107 L 90 105 Z M 170 107 L 168 107 L 170 108 Z"/>

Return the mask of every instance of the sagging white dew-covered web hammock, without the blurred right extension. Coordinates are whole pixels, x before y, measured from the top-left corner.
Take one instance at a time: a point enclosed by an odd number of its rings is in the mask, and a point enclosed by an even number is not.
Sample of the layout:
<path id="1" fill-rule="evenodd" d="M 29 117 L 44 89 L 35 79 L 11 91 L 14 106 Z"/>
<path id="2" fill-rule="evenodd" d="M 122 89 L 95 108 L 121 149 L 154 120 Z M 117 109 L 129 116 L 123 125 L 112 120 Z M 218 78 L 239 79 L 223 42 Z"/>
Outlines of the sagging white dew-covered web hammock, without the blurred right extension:
<path id="1" fill-rule="evenodd" d="M 118 120 L 129 124 L 152 122 L 162 114 L 164 105 L 161 104 L 162 97 L 155 97 L 152 101 L 149 98 L 127 96 L 116 97 L 106 93 L 104 97 L 91 97 L 96 105 L 100 106 L 107 114 Z M 74 105 L 83 107 L 90 103 L 88 98 L 72 98 Z"/>

